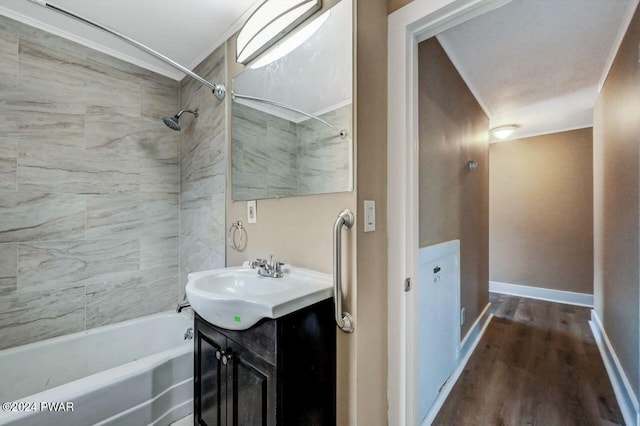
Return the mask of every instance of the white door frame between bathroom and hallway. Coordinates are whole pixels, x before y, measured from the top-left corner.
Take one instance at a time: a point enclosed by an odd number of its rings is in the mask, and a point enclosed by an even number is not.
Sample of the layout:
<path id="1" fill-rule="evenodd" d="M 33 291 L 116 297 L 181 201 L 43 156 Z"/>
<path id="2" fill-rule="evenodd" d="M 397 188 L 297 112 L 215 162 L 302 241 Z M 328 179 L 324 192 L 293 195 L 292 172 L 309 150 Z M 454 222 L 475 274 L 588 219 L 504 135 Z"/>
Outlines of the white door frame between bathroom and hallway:
<path id="1" fill-rule="evenodd" d="M 418 43 L 511 0 L 414 0 L 388 18 L 388 424 L 418 424 Z"/>

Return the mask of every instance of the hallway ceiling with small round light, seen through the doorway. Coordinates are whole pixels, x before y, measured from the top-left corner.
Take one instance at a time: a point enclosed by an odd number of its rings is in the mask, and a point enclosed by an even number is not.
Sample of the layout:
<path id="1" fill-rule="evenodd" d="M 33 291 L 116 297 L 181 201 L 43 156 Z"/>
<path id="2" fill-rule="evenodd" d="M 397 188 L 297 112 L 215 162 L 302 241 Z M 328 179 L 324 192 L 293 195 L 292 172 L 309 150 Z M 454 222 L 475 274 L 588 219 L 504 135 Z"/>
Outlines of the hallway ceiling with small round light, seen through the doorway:
<path id="1" fill-rule="evenodd" d="M 513 0 L 438 35 L 490 118 L 513 138 L 590 127 L 637 0 Z"/>

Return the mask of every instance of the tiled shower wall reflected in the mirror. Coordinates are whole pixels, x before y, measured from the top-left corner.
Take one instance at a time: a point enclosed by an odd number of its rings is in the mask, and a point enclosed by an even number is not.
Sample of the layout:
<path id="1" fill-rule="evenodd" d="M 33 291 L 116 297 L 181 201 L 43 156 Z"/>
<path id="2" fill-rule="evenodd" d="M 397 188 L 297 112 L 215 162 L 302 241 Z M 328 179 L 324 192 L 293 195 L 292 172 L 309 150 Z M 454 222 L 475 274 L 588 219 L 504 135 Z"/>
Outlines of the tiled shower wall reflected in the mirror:
<path id="1" fill-rule="evenodd" d="M 234 103 L 233 199 L 251 200 L 348 191 L 352 185 L 351 104 L 320 115 L 325 124 L 295 123 Z"/>

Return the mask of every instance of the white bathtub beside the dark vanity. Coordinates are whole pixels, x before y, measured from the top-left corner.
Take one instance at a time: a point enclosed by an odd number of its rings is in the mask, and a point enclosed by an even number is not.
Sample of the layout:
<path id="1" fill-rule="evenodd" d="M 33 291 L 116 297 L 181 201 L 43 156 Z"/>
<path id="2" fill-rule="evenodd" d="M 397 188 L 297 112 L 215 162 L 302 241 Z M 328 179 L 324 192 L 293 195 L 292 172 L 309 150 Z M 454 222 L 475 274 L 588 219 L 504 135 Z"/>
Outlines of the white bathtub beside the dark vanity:
<path id="1" fill-rule="evenodd" d="M 192 327 L 186 313 L 161 313 L 0 351 L 0 425 L 161 426 L 188 415 Z"/>

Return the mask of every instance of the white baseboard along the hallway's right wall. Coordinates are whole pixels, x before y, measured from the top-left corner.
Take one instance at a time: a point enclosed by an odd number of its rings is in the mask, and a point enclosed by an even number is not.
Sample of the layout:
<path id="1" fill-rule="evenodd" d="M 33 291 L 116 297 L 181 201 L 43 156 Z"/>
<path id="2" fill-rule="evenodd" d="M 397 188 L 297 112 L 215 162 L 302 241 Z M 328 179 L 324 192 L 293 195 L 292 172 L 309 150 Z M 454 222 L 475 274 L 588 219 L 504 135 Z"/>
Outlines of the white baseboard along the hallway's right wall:
<path id="1" fill-rule="evenodd" d="M 624 417 L 624 422 L 628 426 L 640 425 L 640 409 L 638 405 L 638 398 L 627 379 L 627 375 L 622 369 L 620 360 L 616 355 L 616 352 L 611 346 L 609 337 L 602 327 L 602 321 L 595 310 L 591 311 L 591 321 L 589 321 L 593 337 L 596 339 L 600 355 L 604 361 L 604 366 L 607 369 L 609 380 L 613 386 L 613 391 L 616 394 L 620 411 Z"/>

